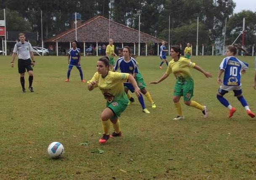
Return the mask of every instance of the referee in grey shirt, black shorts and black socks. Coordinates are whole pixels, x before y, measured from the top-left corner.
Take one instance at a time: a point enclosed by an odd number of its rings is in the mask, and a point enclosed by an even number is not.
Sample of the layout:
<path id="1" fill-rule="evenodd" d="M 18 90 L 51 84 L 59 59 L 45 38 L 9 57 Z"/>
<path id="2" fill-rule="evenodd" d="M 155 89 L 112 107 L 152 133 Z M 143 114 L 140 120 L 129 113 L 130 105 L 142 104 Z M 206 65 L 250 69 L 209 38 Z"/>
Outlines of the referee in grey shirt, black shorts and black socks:
<path id="1" fill-rule="evenodd" d="M 18 73 L 20 73 L 21 75 L 22 92 L 26 92 L 24 80 L 26 70 L 29 73 L 29 91 L 34 92 L 34 89 L 32 87 L 33 68 L 31 67 L 31 65 L 34 67 L 35 60 L 32 52 L 32 46 L 29 42 L 25 41 L 26 37 L 24 33 L 18 34 L 18 37 L 20 42 L 16 43 L 14 46 L 13 55 L 11 57 L 11 67 L 13 68 L 13 62 L 18 52 Z M 32 62 L 30 60 L 30 57 L 32 59 Z"/>

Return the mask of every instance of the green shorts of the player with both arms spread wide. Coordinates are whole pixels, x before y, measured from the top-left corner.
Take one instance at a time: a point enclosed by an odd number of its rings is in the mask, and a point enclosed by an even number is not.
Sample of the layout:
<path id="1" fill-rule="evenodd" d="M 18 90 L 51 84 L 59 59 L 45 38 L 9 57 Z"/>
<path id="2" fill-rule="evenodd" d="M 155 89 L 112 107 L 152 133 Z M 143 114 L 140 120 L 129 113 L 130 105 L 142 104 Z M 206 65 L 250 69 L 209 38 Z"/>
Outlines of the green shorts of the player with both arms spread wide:
<path id="1" fill-rule="evenodd" d="M 194 81 L 185 81 L 185 83 L 179 83 L 176 81 L 174 86 L 174 96 L 183 96 L 184 101 L 190 101 L 194 96 Z"/>

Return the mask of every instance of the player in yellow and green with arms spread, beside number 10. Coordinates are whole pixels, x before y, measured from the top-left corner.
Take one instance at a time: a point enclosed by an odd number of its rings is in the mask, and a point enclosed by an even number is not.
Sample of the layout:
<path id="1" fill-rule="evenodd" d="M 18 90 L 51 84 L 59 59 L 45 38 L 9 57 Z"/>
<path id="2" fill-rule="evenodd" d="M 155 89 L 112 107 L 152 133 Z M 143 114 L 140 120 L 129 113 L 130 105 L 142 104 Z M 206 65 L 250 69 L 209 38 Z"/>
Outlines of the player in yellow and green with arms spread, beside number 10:
<path id="1" fill-rule="evenodd" d="M 171 49 L 171 57 L 173 58 L 166 70 L 166 73 L 158 80 L 150 82 L 150 84 L 157 84 L 161 81 L 164 81 L 170 73 L 173 73 L 176 77 L 177 81 L 174 86 L 174 94 L 173 94 L 173 102 L 174 106 L 178 112 L 178 116 L 173 120 L 181 120 L 185 117 L 182 114 L 181 104 L 179 102 L 180 97 L 183 96 L 184 103 L 188 106 L 195 107 L 203 112 L 204 117 L 208 117 L 208 110 L 206 106 L 202 106 L 195 101 L 191 101 L 193 97 L 193 90 L 194 90 L 194 80 L 191 76 L 189 68 L 194 68 L 201 73 L 203 73 L 206 78 L 212 77 L 211 73 L 206 72 L 195 63 L 192 63 L 190 60 L 180 57 L 181 49 L 179 46 L 175 45 L 172 46 Z"/>

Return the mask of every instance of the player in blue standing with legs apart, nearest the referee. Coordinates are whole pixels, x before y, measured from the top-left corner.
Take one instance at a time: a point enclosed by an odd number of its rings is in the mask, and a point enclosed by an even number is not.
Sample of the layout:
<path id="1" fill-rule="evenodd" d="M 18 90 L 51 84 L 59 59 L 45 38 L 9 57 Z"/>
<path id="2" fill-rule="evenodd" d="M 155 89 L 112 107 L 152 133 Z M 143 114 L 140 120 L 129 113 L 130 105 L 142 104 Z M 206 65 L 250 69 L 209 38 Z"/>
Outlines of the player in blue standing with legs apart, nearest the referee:
<path id="1" fill-rule="evenodd" d="M 69 76 L 70 76 L 70 72 L 73 68 L 73 66 L 75 66 L 80 73 L 80 77 L 81 77 L 81 81 L 84 83 L 84 79 L 83 79 L 83 72 L 82 72 L 82 68 L 81 68 L 81 51 L 79 48 L 77 48 L 77 42 L 72 42 L 72 48 L 69 50 L 68 52 L 69 57 L 68 57 L 68 65 L 69 65 L 69 69 L 68 69 L 68 73 L 67 73 L 67 79 L 65 82 L 69 82 Z"/>

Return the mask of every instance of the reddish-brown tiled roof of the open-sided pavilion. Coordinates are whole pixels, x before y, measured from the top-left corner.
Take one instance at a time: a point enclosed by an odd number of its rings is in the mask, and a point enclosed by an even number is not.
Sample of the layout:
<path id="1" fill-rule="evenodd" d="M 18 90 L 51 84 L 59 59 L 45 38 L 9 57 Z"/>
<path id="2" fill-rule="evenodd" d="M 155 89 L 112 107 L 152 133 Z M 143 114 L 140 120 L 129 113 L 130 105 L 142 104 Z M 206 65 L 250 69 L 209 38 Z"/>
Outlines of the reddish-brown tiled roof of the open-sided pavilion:
<path id="1" fill-rule="evenodd" d="M 94 18 L 85 21 L 77 26 L 77 41 L 78 42 L 108 42 L 109 39 L 109 23 L 110 23 L 110 37 L 115 43 L 138 43 L 139 31 L 129 28 L 120 23 L 109 21 L 102 16 L 95 16 Z M 75 39 L 75 28 L 71 28 L 62 32 L 45 42 L 70 42 Z M 140 42 L 161 43 L 163 40 L 153 37 L 149 34 L 140 32 Z"/>

